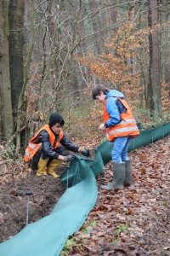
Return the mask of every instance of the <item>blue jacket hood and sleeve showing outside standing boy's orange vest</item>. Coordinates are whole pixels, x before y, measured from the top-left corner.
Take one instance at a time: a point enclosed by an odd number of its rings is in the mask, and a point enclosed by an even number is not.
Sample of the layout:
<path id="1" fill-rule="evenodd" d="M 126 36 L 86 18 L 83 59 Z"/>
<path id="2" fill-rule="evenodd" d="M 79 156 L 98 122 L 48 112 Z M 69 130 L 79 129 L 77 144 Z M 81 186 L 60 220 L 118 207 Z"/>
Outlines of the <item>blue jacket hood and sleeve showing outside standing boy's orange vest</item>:
<path id="1" fill-rule="evenodd" d="M 127 108 L 125 108 L 122 105 L 122 102 L 120 102 L 116 97 L 119 97 L 121 99 L 124 99 L 125 96 L 122 94 L 122 92 L 118 90 L 110 90 L 106 95 L 105 95 L 105 100 L 109 98 L 106 101 L 106 110 L 107 113 L 110 115 L 110 119 L 107 120 L 105 125 L 107 127 L 112 127 L 120 123 L 121 121 L 121 113 L 125 113 L 127 111 Z"/>

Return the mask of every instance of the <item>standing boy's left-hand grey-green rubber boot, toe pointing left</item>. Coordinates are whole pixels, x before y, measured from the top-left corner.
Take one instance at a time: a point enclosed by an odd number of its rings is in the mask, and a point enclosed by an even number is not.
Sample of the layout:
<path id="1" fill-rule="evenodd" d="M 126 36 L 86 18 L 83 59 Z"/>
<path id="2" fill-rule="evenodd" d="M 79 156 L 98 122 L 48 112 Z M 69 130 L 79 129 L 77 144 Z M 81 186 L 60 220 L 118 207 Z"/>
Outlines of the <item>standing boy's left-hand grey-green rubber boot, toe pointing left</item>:
<path id="1" fill-rule="evenodd" d="M 108 185 L 101 186 L 102 189 L 122 189 L 125 180 L 125 163 L 113 163 L 114 181 Z"/>

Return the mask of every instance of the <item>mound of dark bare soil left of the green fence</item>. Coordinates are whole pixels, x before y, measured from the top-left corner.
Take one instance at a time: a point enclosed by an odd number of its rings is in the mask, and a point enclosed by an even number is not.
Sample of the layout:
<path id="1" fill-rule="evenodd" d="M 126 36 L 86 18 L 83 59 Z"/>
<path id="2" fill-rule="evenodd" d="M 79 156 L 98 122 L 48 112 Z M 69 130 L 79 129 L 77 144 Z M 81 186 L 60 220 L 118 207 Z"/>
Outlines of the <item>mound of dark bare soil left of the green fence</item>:
<path id="1" fill-rule="evenodd" d="M 26 195 L 31 192 L 31 195 Z M 59 178 L 30 174 L 0 188 L 0 242 L 17 234 L 54 208 L 65 186 Z M 27 215 L 28 212 L 28 215 Z"/>

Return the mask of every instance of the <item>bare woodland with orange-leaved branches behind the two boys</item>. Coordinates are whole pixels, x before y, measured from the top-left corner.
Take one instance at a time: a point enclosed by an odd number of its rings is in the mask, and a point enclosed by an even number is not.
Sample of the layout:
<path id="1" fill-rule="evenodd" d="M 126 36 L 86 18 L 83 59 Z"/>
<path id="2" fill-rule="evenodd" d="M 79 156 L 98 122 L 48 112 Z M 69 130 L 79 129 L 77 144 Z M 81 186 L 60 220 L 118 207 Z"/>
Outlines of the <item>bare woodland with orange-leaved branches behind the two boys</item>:
<path id="1" fill-rule="evenodd" d="M 144 129 L 169 121 L 170 1 L 2 0 L 0 12 L 3 153 L 23 152 L 54 111 L 70 137 L 100 139 L 96 84 L 121 90 Z"/>

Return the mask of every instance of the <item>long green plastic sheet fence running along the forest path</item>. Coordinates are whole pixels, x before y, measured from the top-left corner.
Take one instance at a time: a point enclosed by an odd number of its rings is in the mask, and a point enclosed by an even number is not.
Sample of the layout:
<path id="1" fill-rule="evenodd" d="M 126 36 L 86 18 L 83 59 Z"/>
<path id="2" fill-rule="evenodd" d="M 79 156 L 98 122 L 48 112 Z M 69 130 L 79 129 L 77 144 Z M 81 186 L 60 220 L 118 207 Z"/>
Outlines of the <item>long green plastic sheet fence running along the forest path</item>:
<path id="1" fill-rule="evenodd" d="M 141 131 L 129 151 L 170 134 L 170 123 Z M 97 200 L 95 177 L 111 160 L 113 144 L 105 141 L 95 150 L 95 159 L 77 155 L 60 179 L 66 185 L 54 210 L 36 223 L 28 224 L 17 235 L 0 244 L 0 256 L 58 256 L 69 236 L 80 229 Z"/>

